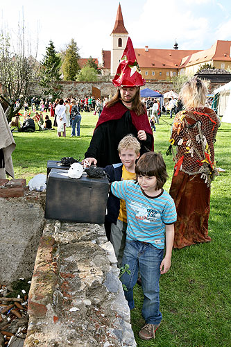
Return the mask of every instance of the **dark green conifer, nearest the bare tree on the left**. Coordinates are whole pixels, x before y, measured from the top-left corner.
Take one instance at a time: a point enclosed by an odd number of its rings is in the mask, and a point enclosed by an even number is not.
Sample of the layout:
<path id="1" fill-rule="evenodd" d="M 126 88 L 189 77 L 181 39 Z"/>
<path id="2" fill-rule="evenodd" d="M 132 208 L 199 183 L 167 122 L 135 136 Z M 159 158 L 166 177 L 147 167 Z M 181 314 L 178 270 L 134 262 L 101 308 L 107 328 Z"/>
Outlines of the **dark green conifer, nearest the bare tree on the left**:
<path id="1" fill-rule="evenodd" d="M 61 58 L 55 51 L 55 46 L 50 40 L 49 45 L 46 47 L 46 56 L 42 62 L 42 69 L 40 71 L 41 81 L 40 85 L 44 88 L 44 94 L 57 97 L 61 92 L 61 87 L 58 85 L 60 81 L 60 65 Z"/>

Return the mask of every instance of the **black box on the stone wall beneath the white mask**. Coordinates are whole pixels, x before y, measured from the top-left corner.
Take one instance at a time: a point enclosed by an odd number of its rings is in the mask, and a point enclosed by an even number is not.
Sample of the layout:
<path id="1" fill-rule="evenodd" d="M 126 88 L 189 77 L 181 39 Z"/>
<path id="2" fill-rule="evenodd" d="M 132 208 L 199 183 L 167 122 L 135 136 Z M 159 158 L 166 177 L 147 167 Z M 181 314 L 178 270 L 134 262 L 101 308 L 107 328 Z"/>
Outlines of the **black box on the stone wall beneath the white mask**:
<path id="1" fill-rule="evenodd" d="M 51 169 L 46 187 L 46 219 L 102 224 L 108 200 L 108 178 L 69 178 L 67 170 Z"/>

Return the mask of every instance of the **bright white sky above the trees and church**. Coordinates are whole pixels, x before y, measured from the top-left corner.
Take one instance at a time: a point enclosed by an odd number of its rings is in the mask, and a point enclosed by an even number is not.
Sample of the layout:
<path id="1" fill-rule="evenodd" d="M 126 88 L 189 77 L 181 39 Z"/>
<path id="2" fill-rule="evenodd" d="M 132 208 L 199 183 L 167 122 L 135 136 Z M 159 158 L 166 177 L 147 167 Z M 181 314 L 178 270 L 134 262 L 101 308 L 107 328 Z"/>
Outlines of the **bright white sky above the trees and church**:
<path id="1" fill-rule="evenodd" d="M 120 0 L 123 22 L 133 46 L 152 49 L 209 49 L 231 40 L 230 0 Z M 98 58 L 111 49 L 119 0 L 0 0 L 1 26 L 14 37 L 24 18 L 25 33 L 38 42 L 37 60 L 52 40 L 56 51 L 73 38 L 81 58 Z M 32 53 L 33 53 L 32 52 Z M 35 56 L 35 54 L 34 54 Z"/>

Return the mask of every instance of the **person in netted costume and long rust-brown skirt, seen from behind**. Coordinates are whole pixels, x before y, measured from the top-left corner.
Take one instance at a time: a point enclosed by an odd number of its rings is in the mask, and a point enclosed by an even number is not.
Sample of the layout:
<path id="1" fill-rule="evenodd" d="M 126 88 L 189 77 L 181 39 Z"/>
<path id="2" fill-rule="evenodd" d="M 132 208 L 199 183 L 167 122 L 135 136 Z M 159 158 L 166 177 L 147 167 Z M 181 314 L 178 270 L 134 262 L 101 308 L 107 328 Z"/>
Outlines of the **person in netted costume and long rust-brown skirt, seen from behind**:
<path id="1" fill-rule="evenodd" d="M 205 107 L 207 89 L 203 81 L 192 78 L 185 83 L 180 99 L 185 110 L 178 112 L 170 142 L 177 147 L 176 164 L 169 194 L 174 199 L 178 219 L 174 248 L 209 242 L 210 183 L 216 175 L 214 142 L 219 118 Z"/>

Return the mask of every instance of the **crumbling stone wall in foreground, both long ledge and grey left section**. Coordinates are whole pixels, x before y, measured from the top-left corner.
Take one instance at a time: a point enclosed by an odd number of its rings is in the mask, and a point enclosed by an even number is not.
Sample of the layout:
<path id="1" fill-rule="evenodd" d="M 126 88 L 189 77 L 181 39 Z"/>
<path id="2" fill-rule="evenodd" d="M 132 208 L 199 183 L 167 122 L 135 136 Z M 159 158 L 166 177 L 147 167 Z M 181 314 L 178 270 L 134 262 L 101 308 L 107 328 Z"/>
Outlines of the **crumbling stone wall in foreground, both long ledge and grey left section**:
<path id="1" fill-rule="evenodd" d="M 0 282 L 33 273 L 24 347 L 137 346 L 104 227 L 45 221 L 44 201 L 28 190 L 0 198 Z"/>

